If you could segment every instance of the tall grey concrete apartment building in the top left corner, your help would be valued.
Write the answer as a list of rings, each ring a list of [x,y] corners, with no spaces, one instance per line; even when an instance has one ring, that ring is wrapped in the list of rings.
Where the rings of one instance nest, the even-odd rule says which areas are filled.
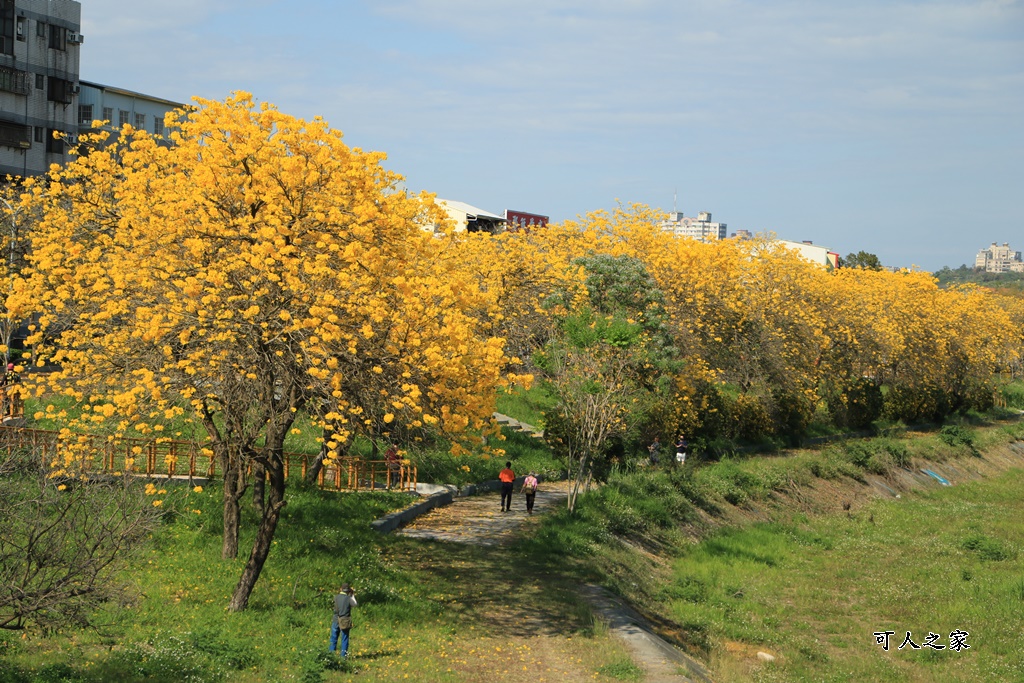
[[[53,132],[78,129],[81,16],[74,0],[0,0],[0,175],[68,160]]]

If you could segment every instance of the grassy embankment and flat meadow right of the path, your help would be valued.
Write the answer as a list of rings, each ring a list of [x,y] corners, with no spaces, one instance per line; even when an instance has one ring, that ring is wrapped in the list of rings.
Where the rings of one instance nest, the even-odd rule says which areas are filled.
[[[597,574],[723,681],[1020,680],[1024,474],[840,506],[894,460],[970,467],[977,451],[1014,438],[1020,423],[958,426],[624,475],[529,543]],[[799,511],[799,492],[815,489],[838,497],[838,513]],[[896,649],[907,631],[948,644],[955,629],[972,634],[971,650]],[[889,652],[873,644],[885,630],[898,634]],[[759,650],[779,659],[759,665]]]

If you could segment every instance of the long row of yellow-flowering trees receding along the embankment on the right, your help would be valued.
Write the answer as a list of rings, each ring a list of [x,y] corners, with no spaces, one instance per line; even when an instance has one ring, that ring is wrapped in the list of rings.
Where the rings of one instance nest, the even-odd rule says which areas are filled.
[[[766,236],[705,244],[643,205],[521,236],[481,238],[473,260],[501,283],[503,336],[524,360],[553,333],[541,302],[571,287],[567,264],[606,254],[643,262],[665,295],[678,357],[670,410],[641,427],[706,436],[796,435],[826,409],[838,426],[939,418],[991,401],[1019,369],[1020,304],[940,290],[929,273],[831,270]],[[882,387],[889,391],[883,395]]]

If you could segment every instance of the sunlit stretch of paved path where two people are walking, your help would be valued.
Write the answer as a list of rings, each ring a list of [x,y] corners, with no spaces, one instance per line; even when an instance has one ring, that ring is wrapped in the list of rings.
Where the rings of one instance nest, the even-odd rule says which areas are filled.
[[[565,505],[568,482],[544,482],[537,492],[534,516]],[[402,536],[431,541],[466,543],[476,546],[500,546],[515,536],[527,521],[526,497],[512,497],[512,511],[502,512],[501,495],[480,494],[457,498],[452,505],[431,510],[398,530]]]

